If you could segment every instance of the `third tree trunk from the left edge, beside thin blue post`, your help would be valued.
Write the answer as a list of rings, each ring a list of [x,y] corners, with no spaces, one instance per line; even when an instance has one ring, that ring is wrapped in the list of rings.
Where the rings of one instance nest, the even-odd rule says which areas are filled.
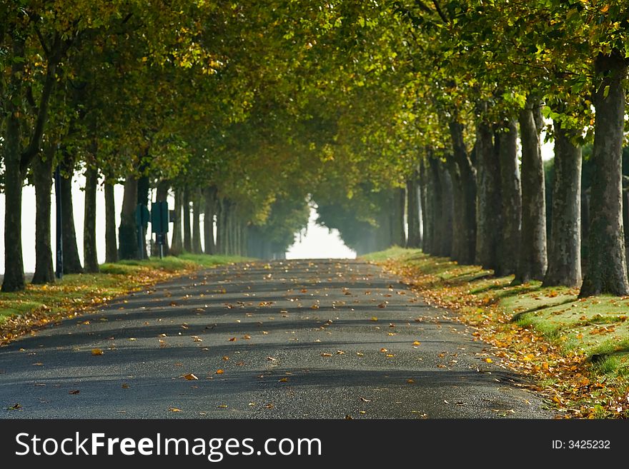
[[[74,158],[65,155],[64,172],[66,178],[61,178],[61,237],[64,251],[64,273],[83,273],[79,248],[76,245],[76,230],[74,228],[74,207],[72,206],[72,178],[74,176]]]

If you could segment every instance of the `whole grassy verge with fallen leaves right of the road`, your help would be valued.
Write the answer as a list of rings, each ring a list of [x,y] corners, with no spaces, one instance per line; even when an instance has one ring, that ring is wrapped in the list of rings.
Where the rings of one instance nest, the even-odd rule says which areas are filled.
[[[435,306],[475,326],[497,365],[529,375],[565,418],[629,417],[629,298],[578,299],[578,290],[512,286],[479,266],[420,250],[365,256]]]

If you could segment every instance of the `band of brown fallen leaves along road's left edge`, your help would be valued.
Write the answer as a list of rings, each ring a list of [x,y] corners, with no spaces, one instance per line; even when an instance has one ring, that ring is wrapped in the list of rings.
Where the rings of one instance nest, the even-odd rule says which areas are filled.
[[[119,279],[119,284],[125,286],[123,293],[131,293],[141,288],[152,286],[155,283],[166,281],[169,278],[190,273],[194,269],[186,268],[184,270],[167,271],[161,268],[143,267],[132,274],[112,274],[99,273],[99,276],[110,276]],[[107,303],[115,296],[106,288],[87,288],[88,286],[74,285],[68,286],[63,283],[55,283],[51,285],[27,285],[26,291],[21,293],[24,300],[36,295],[37,293],[46,292],[55,300],[51,304],[42,304],[36,306],[30,311],[20,313],[19,315],[10,316],[0,323],[0,346],[16,340],[21,336],[36,334],[41,328],[50,324],[59,323],[65,318],[74,318],[84,313],[94,311],[96,306]],[[67,293],[80,293],[79,297],[74,294],[72,297]],[[14,300],[15,301],[15,300]],[[19,301],[19,300],[18,300]],[[0,298],[0,306],[2,300]]]

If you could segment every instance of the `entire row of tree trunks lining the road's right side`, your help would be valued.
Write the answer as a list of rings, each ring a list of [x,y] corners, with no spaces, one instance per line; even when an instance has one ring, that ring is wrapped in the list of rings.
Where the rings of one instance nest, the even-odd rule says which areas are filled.
[[[621,54],[600,54],[595,66],[602,84],[593,100],[594,171],[588,206],[582,206],[581,149],[573,143],[578,135],[555,121],[555,178],[547,240],[540,143],[543,119],[540,101],[529,96],[517,121],[478,123],[472,152],[465,148],[456,119],[449,125],[452,154],[435,158],[425,148],[419,168],[407,180],[407,246],[421,244],[426,253],[477,263],[498,276],[514,274],[515,283],[539,280],[545,286],[581,286],[580,296],[628,295],[625,243],[629,227],[623,223],[622,176],[627,64]],[[564,110],[562,103],[554,107],[558,114]],[[478,110],[482,115],[487,104],[480,104]],[[629,220],[629,197],[625,199],[624,214]],[[582,220],[587,222],[584,227]],[[582,278],[585,231],[588,259]]]

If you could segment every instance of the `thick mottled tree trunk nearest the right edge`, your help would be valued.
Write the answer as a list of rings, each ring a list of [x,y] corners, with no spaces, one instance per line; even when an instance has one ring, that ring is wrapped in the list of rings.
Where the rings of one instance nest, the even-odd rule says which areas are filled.
[[[624,54],[599,54],[595,72],[602,78],[594,94],[596,109],[590,195],[588,271],[579,296],[629,295],[623,233],[623,130],[627,75]]]

